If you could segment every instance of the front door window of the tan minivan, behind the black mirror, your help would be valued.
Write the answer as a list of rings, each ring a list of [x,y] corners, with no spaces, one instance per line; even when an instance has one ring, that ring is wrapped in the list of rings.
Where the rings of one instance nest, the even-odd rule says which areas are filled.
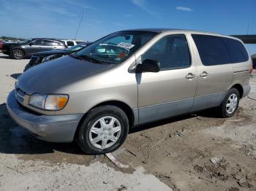
[[[142,60],[159,61],[160,69],[181,69],[190,66],[190,54],[184,35],[165,36],[142,55]]]

